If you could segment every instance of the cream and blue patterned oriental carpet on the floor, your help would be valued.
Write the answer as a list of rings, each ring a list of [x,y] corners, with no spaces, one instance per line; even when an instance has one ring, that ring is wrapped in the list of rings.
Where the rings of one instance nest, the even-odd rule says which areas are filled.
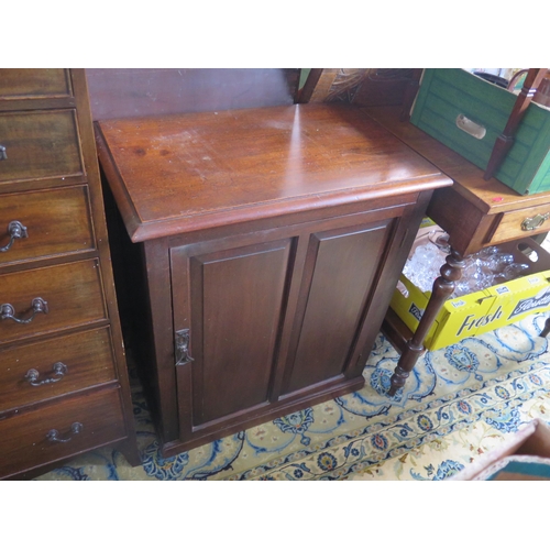
[[[427,352],[386,394],[398,353],[378,336],[360,392],[163,459],[133,388],[143,465],[110,448],[37,480],[443,480],[526,422],[550,422],[546,315]]]

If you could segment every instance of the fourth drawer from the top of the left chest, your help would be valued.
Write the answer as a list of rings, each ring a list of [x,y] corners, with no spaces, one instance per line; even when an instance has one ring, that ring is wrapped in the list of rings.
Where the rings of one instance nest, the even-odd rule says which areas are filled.
[[[99,265],[95,258],[0,275],[0,305],[12,306],[13,316],[30,318],[34,311],[32,302],[36,298],[47,302],[48,312],[37,312],[28,323],[19,323],[11,318],[0,319],[0,342],[107,318]],[[2,309],[6,312],[6,306]]]

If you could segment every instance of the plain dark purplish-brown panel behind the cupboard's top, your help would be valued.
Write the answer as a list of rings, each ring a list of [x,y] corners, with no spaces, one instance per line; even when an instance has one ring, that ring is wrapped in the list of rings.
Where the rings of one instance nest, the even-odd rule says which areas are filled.
[[[292,105],[299,69],[89,68],[94,120]]]

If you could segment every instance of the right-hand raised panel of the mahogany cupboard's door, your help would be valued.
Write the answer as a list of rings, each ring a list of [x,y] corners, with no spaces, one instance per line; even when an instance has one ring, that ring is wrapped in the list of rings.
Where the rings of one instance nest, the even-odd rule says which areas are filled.
[[[391,227],[385,221],[310,235],[284,394],[343,375],[353,363]]]

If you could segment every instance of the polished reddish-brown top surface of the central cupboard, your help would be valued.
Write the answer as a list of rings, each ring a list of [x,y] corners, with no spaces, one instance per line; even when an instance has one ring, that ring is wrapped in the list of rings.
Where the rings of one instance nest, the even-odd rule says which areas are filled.
[[[97,134],[134,241],[452,184],[349,106],[106,120]]]

